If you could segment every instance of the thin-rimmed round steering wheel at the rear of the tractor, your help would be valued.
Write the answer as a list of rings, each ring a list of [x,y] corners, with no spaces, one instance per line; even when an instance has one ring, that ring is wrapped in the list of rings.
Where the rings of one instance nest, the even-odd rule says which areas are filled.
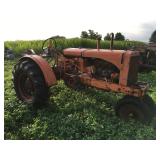
[[[42,51],[48,56],[54,56],[56,52],[57,43],[54,37],[46,39],[42,44]]]

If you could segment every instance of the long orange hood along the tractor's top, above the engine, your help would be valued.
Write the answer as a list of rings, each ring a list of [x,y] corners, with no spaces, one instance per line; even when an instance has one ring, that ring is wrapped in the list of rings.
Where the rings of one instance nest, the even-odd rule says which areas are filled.
[[[85,49],[67,48],[63,50],[65,57],[70,58],[98,58],[113,63],[118,68],[123,66],[124,61],[130,61],[132,57],[139,57],[139,52],[130,50],[110,50],[110,49]],[[126,62],[125,62],[126,63]],[[127,62],[129,63],[129,62]]]

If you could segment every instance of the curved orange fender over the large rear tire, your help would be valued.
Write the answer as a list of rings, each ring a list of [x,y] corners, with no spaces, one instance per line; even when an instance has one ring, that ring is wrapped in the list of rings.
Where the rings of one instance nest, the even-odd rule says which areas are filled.
[[[56,76],[55,76],[52,68],[50,67],[50,65],[48,64],[48,62],[44,58],[42,58],[41,56],[38,56],[38,55],[25,55],[19,61],[24,61],[26,59],[33,61],[34,63],[36,63],[39,66],[40,70],[43,73],[46,85],[48,87],[57,83]]]

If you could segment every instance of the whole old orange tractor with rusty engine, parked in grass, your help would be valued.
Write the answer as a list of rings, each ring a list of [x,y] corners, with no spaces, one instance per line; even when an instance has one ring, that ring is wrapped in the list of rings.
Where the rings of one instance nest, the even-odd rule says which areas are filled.
[[[146,92],[148,84],[138,82],[139,53],[130,50],[66,48],[60,50],[54,38],[44,41],[41,55],[22,57],[13,69],[17,97],[29,104],[48,101],[49,88],[64,80],[73,89],[94,87],[119,92],[125,96],[115,106],[116,114],[125,120],[150,121],[155,115],[155,103]],[[43,58],[51,57],[52,66]]]

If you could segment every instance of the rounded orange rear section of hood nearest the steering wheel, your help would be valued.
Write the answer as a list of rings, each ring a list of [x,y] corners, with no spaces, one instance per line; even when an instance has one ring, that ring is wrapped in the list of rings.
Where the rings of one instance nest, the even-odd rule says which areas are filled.
[[[81,57],[86,50],[84,48],[67,48],[63,50],[63,55],[65,57]]]

